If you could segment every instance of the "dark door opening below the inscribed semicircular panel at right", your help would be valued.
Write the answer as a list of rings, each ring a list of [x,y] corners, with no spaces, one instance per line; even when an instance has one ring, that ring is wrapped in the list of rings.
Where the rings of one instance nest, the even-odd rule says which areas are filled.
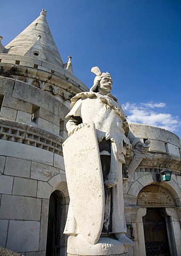
[[[147,208],[143,217],[146,256],[170,256],[166,218],[161,208]]]

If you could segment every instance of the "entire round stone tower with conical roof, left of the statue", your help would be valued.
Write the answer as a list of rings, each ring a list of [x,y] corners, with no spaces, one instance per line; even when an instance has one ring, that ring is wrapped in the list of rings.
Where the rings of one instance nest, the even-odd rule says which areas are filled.
[[[45,255],[48,244],[63,255],[64,117],[71,97],[88,89],[71,57],[63,62],[45,10],[8,45],[0,42],[0,70],[0,246],[30,256]]]

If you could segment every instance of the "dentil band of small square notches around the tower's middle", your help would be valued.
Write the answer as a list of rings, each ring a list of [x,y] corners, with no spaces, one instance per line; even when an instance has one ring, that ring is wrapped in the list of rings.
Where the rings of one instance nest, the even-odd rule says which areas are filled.
[[[36,126],[0,118],[0,139],[23,143],[62,155],[63,140]]]

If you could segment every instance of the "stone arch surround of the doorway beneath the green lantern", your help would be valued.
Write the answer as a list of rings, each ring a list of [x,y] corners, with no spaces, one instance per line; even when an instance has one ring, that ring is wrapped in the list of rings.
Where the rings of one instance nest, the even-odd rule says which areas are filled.
[[[159,184],[153,179],[153,177],[153,173],[141,175],[141,177],[135,179],[134,182],[130,182],[130,186],[125,187],[125,198],[128,198],[128,200],[130,200],[128,201],[130,202],[130,205],[126,205],[125,207],[126,222],[131,223],[132,225],[135,242],[135,246],[133,246],[133,249],[130,249],[130,255],[146,255],[144,243],[143,217],[146,214],[146,211],[149,207],[162,208],[161,214],[163,214],[166,218],[169,245],[171,245],[170,253],[171,255],[179,255],[181,251],[180,187],[175,181],[176,177],[174,174],[169,182],[161,182]],[[148,189],[151,187],[156,188],[156,191],[152,193],[153,200],[150,200],[150,198],[146,197],[146,194],[148,196],[150,195]],[[160,189],[160,191],[158,189]],[[162,195],[164,196],[164,194],[162,193],[163,191],[165,191],[165,196],[170,196],[169,198],[166,198],[166,200],[164,199],[165,197],[162,197]],[[168,195],[166,195],[167,192]],[[161,203],[165,203],[158,203],[156,206],[156,203],[154,202],[158,201],[158,194],[160,193],[162,193]],[[139,200],[139,198],[142,198],[142,200]],[[171,201],[169,201],[169,199],[171,199]],[[169,204],[171,202],[172,205],[169,207],[169,204],[166,202],[169,202]]]

